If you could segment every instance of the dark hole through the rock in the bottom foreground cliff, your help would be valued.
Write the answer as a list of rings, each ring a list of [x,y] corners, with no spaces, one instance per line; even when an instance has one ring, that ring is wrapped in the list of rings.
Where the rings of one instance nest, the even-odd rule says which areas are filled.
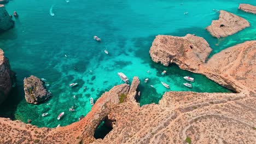
[[[104,137],[113,129],[113,124],[115,121],[105,117],[102,119],[101,123],[98,125],[95,130],[94,137],[95,139],[104,139]]]

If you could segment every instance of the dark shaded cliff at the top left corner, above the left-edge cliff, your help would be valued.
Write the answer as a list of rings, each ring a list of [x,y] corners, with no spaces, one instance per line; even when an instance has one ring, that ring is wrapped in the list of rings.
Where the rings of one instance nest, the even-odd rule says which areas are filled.
[[[0,32],[7,31],[13,27],[14,21],[11,20],[11,17],[7,10],[5,10],[4,5],[0,4]]]

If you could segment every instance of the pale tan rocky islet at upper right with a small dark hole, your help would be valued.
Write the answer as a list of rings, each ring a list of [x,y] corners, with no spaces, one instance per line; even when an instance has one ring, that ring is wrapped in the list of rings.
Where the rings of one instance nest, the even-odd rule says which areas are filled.
[[[213,37],[221,38],[235,34],[249,26],[250,23],[242,17],[220,10],[219,20],[212,21],[211,26],[206,29]]]

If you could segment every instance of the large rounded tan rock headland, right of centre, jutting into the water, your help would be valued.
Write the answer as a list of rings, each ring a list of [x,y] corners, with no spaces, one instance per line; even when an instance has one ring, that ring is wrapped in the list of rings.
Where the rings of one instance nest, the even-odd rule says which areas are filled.
[[[205,39],[187,34],[185,37],[158,35],[149,53],[156,63],[160,62],[165,66],[175,63],[183,69],[195,70],[198,65],[205,63],[211,51]]]

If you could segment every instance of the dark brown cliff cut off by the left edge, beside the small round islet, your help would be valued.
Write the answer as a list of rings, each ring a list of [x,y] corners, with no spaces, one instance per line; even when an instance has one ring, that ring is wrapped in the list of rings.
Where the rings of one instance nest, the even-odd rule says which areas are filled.
[[[4,57],[4,52],[0,49],[0,104],[7,98],[15,83],[15,74],[10,70],[8,58]]]

